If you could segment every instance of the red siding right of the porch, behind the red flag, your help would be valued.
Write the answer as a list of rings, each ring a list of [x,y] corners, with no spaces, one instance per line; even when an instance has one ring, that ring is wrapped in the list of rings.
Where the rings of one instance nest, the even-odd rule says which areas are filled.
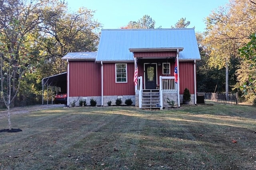
[[[190,94],[194,94],[194,61],[179,62],[180,94],[188,88]]]

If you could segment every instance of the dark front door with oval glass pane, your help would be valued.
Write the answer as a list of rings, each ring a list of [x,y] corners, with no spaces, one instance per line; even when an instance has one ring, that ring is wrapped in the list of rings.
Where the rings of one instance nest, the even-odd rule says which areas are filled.
[[[145,64],[145,88],[156,89],[156,64]]]

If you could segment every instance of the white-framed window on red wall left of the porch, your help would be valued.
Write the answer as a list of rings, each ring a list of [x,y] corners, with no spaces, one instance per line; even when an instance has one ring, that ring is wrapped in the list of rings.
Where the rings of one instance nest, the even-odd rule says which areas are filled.
[[[127,83],[127,64],[116,64],[116,83]]]

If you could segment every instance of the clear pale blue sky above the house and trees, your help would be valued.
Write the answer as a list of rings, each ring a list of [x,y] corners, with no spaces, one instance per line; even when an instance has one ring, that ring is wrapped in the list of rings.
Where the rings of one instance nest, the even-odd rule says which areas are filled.
[[[180,18],[190,21],[188,28],[196,32],[205,29],[204,19],[224,6],[228,0],[65,0],[70,11],[80,7],[95,10],[94,19],[102,29],[119,29],[130,21],[138,21],[144,15],[156,21],[155,28],[170,28]]]

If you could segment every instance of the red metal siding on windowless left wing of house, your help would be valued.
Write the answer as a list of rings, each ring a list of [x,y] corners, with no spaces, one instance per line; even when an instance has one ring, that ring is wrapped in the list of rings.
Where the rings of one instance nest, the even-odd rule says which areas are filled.
[[[101,96],[100,63],[69,61],[69,96]]]

